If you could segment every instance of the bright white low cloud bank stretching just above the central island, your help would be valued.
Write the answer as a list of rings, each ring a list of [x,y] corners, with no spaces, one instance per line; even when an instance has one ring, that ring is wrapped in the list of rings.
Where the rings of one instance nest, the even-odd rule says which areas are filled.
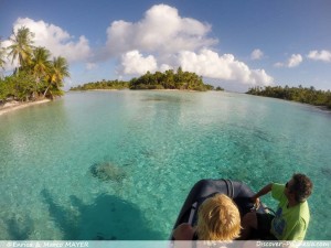
[[[152,55],[143,57],[137,50],[121,56],[120,72],[124,74],[142,75],[147,71],[164,72],[181,66],[183,71],[223,80],[235,80],[248,85],[270,85],[274,80],[264,69],[250,69],[245,63],[236,61],[234,55],[217,53],[203,48],[199,53],[182,51],[170,63],[158,66]]]

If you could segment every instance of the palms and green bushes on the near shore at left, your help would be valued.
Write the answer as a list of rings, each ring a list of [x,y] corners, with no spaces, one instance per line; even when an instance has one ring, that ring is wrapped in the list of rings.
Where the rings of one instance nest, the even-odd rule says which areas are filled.
[[[10,76],[0,76],[0,105],[7,101],[34,101],[62,96],[63,80],[70,77],[68,63],[62,57],[51,60],[45,47],[33,46],[34,34],[25,26],[13,32],[11,45],[2,47],[0,41],[0,68],[4,68],[4,57],[17,58],[18,67]]]

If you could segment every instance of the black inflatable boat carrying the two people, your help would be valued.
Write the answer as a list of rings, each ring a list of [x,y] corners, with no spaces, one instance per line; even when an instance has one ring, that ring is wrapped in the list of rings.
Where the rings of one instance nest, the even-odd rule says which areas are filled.
[[[182,223],[189,223],[191,226],[194,226],[196,224],[199,206],[204,200],[217,193],[225,194],[233,198],[239,209],[241,217],[250,212],[254,207],[254,203],[250,201],[254,193],[245,183],[231,180],[201,180],[189,193],[173,229]],[[256,212],[266,213],[268,208],[260,204]]]

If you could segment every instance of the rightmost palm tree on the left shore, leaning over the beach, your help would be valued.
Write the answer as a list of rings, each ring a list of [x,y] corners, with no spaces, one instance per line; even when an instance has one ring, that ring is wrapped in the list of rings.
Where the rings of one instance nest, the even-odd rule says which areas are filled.
[[[68,64],[64,57],[55,57],[51,63],[51,71],[49,74],[49,86],[44,91],[44,97],[46,96],[51,86],[53,86],[55,90],[61,91],[61,87],[63,86],[63,79],[65,77],[70,77]]]

